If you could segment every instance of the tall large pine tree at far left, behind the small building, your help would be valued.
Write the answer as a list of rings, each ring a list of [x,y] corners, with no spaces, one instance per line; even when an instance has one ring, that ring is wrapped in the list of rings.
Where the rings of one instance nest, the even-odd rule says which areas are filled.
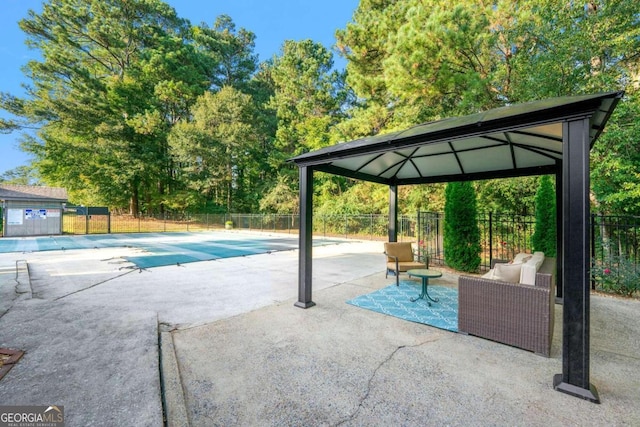
[[[29,97],[3,107],[40,127],[23,147],[43,180],[152,209],[170,184],[167,131],[205,89],[187,22],[160,0],[51,0],[20,27],[42,60]]]

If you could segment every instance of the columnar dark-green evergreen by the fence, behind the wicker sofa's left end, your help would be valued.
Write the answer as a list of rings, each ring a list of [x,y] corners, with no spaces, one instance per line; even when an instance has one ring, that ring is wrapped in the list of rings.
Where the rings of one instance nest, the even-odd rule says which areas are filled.
[[[470,182],[451,182],[445,190],[444,256],[447,265],[467,272],[480,265],[476,193]]]

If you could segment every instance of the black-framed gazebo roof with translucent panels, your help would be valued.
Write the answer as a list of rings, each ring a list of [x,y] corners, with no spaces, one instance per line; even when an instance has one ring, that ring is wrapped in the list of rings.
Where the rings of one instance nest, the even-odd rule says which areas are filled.
[[[563,123],[590,118],[590,147],[623,92],[506,106],[340,143],[290,159],[298,166],[389,185],[540,175],[562,160]]]

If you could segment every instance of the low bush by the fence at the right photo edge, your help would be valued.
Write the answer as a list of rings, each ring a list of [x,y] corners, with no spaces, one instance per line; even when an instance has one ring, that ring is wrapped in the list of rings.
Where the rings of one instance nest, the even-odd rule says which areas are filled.
[[[605,261],[595,261],[591,275],[598,288],[626,297],[640,292],[640,265],[626,256],[613,256]]]

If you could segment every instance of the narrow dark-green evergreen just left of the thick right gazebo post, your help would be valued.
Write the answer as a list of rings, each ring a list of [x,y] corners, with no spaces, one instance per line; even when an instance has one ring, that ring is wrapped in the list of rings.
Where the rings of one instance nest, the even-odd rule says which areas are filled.
[[[536,226],[531,244],[534,251],[556,256],[556,193],[550,175],[540,177],[536,192]]]

